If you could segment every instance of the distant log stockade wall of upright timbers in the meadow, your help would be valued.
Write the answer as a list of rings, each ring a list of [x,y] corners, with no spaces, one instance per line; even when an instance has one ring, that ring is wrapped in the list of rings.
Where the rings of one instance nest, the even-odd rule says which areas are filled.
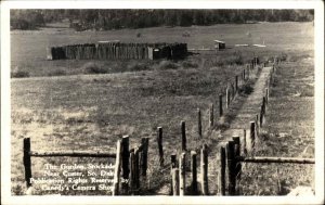
[[[182,59],[187,54],[186,43],[126,43],[98,42],[67,44],[47,49],[48,60],[156,60]]]

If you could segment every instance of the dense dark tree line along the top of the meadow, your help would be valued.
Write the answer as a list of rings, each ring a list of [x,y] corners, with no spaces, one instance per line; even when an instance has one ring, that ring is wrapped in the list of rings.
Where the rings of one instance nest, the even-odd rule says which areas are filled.
[[[313,10],[11,10],[13,29],[69,20],[78,29],[120,29],[251,22],[313,21]]]

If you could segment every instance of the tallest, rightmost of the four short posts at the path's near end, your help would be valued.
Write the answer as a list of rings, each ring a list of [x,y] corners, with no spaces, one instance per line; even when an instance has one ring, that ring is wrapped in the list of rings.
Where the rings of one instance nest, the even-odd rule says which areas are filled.
[[[200,171],[202,171],[202,192],[203,195],[208,195],[208,151],[207,144],[204,144],[200,150]]]

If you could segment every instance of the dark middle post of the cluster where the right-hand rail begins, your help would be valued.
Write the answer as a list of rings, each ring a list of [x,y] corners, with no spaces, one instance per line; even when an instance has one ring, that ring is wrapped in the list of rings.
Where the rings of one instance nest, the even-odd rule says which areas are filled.
[[[227,177],[229,177],[229,195],[236,194],[236,176],[235,176],[235,153],[234,153],[234,142],[229,141],[226,146],[226,159],[227,159]]]

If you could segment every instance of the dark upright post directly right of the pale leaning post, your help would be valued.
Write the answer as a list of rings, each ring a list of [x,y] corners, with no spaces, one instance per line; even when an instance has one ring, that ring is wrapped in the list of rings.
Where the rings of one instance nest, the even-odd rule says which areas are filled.
[[[130,175],[130,165],[129,165],[129,157],[130,157],[130,151],[129,151],[129,136],[123,136],[121,140],[121,159],[122,159],[122,190],[123,193],[128,192],[128,179]]]

